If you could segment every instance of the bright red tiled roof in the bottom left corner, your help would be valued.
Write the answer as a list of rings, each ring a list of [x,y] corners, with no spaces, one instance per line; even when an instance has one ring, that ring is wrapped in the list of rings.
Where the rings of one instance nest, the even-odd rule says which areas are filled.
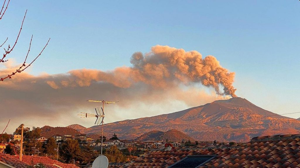
[[[27,168],[33,165],[43,164],[45,168],[79,168],[74,164],[64,164],[59,161],[38,156],[22,156],[22,161],[19,161],[17,155],[7,155],[0,153],[1,168]]]

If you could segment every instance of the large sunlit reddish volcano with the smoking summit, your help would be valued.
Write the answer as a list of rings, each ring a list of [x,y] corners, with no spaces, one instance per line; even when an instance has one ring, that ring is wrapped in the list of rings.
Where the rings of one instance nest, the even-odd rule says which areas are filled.
[[[134,139],[150,131],[183,131],[196,140],[249,141],[250,137],[298,134],[300,121],[264,110],[248,100],[235,97],[217,100],[170,114],[105,124],[105,135]],[[99,134],[100,126],[81,129]]]

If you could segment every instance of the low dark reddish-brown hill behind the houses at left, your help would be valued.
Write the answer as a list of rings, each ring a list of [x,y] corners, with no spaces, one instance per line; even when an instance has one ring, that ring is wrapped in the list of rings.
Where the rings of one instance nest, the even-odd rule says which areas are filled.
[[[43,126],[41,128],[41,136],[45,138],[50,138],[53,135],[76,135],[79,134],[79,131],[76,131],[73,128],[68,128],[68,127],[51,127],[51,126]]]

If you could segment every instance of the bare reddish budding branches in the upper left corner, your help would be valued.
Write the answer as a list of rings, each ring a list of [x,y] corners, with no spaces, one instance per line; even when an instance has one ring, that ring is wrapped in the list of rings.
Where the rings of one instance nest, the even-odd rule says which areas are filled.
[[[7,3],[6,3],[7,2]],[[3,3],[3,6],[1,8],[1,11],[0,11],[0,21],[2,19],[2,17],[4,16],[6,10],[7,10],[7,7],[8,7],[8,4],[9,4],[9,0],[6,1],[4,0],[4,3]],[[4,6],[5,6],[5,9],[4,9]],[[4,9],[4,10],[3,10]],[[3,13],[2,13],[3,11]],[[10,54],[13,49],[15,48],[16,44],[17,44],[17,41],[19,39],[19,36],[20,36],[20,33],[21,33],[21,30],[22,30],[22,26],[23,26],[23,23],[24,23],[24,20],[25,20],[25,17],[26,17],[26,13],[27,13],[27,10],[25,12],[25,15],[24,15],[24,18],[22,20],[22,24],[21,24],[21,28],[19,30],[19,33],[18,33],[18,36],[16,37],[16,41],[14,42],[14,44],[11,46],[11,45],[7,45],[6,48],[4,48],[4,54],[2,56],[2,58],[0,57],[0,63],[3,63],[3,62],[7,62],[8,60],[6,59],[6,57],[8,56],[8,54]],[[1,32],[2,33],[2,32]],[[6,38],[6,40],[1,44],[0,43],[0,48],[7,42],[8,38]],[[48,42],[50,41],[50,39],[48,40]],[[19,68],[17,68],[15,71],[11,72],[11,73],[8,73],[6,71],[3,71],[3,73],[1,73],[1,70],[0,70],[0,75],[4,75],[4,73],[6,73],[6,76],[4,77],[0,77],[0,81],[3,81],[5,79],[10,79],[12,78],[13,75],[17,74],[17,73],[21,73],[22,71],[24,71],[26,68],[28,68],[41,54],[42,52],[44,51],[44,49],[46,48],[46,46],[48,45],[48,42],[46,43],[45,47],[42,49],[42,51],[40,52],[40,54],[38,54],[38,56],[35,57],[35,59],[33,59],[33,61],[31,63],[29,63],[28,65],[26,65],[26,60],[27,60],[27,56],[29,55],[29,51],[30,51],[30,47],[31,47],[31,42],[32,42],[32,36],[31,36],[31,39],[30,39],[30,43],[29,43],[29,49],[28,49],[28,52],[27,52],[27,55],[25,57],[25,60],[24,60],[24,63],[22,65],[19,66]],[[7,74],[8,73],[8,74]]]

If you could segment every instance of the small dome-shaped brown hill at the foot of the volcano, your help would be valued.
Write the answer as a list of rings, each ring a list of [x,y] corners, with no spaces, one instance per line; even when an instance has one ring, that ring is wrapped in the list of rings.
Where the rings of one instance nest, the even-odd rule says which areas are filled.
[[[176,129],[171,129],[166,132],[162,131],[151,131],[147,132],[140,137],[138,137],[136,140],[139,141],[145,141],[145,140],[153,140],[153,141],[169,141],[169,142],[181,142],[182,140],[185,142],[187,140],[190,140],[192,142],[195,141],[194,138],[186,135],[183,132],[180,132]]]

